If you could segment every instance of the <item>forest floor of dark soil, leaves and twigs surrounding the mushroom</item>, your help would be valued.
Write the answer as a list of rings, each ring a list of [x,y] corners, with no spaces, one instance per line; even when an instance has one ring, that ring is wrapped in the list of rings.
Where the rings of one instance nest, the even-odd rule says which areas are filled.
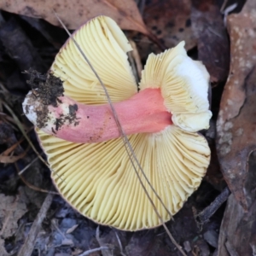
[[[122,1],[110,0],[91,9],[86,5],[91,1],[84,1],[79,7],[84,13],[78,0],[73,9],[57,0],[0,3],[0,255],[181,255],[163,227],[125,232],[73,210],[39,159],[46,157],[21,108],[31,90],[24,71],[47,73],[68,38],[52,9],[73,31],[90,15],[105,14],[106,2],[117,6],[112,12],[106,8],[106,15],[117,18],[137,49],[130,59],[138,77],[148,54],[182,40],[188,55],[202,61],[211,76],[212,120],[204,135],[212,159],[200,188],[166,224],[172,236],[191,256],[256,255],[256,3],[141,0],[130,6],[130,1],[125,13]],[[229,200],[200,227],[196,212],[227,186]]]

